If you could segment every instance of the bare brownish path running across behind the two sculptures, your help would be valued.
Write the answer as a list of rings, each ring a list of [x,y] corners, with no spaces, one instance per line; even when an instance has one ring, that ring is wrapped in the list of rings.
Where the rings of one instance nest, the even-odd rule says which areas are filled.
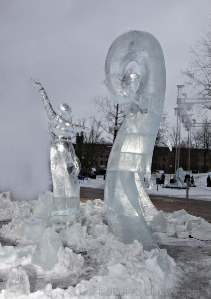
[[[88,199],[94,200],[96,198],[104,200],[104,189],[82,187],[80,189],[80,197],[82,202],[85,202]],[[149,197],[158,210],[163,210],[167,213],[186,209],[186,198],[163,195],[149,195]],[[211,201],[189,199],[188,213],[202,217],[211,223]]]

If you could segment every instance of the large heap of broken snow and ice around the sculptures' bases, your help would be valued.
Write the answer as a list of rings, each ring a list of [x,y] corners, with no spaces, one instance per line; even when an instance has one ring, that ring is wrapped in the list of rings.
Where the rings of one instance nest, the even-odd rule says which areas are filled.
[[[25,203],[26,210],[32,210],[33,206],[34,202],[31,206],[30,202]],[[29,240],[22,236],[27,220],[27,217],[14,216],[0,229],[1,237],[21,244],[14,248],[9,246],[15,249],[15,255],[9,264],[0,265],[5,276],[8,276],[9,269],[22,265],[28,273],[29,282],[35,273],[37,279],[42,278],[43,281],[39,284],[41,290],[37,291],[36,287],[33,293],[21,298],[140,298],[141,292],[171,289],[178,281],[178,269],[165,249],[143,251],[138,241],[125,245],[107,233],[105,205],[100,199],[81,204],[79,219],[59,234],[55,233],[56,237],[48,237],[47,231],[52,229],[46,229],[38,245],[33,243],[33,238]],[[58,237],[61,241],[57,240]],[[50,245],[44,242],[48,238],[59,244],[56,256],[54,253],[51,258],[53,264],[50,268],[37,262],[39,255],[42,260],[42,255],[52,254],[50,247],[53,241]],[[50,284],[56,282],[60,287],[64,281],[72,283],[64,289],[53,289]],[[4,298],[4,294],[5,290],[2,290],[0,299]]]

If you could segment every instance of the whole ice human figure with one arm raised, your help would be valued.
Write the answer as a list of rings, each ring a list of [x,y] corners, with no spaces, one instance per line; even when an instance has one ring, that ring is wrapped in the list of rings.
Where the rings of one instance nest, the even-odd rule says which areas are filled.
[[[72,108],[69,104],[62,104],[55,112],[40,82],[33,78],[30,81],[39,88],[50,130],[55,135],[50,149],[53,205],[48,226],[60,229],[79,215],[80,208],[78,174],[81,164],[71,139],[76,133],[89,132],[89,129],[70,121]]]

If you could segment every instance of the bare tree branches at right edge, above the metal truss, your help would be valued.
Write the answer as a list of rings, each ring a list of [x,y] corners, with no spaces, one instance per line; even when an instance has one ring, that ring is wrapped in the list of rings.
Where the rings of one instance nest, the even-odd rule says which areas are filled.
[[[195,48],[190,48],[193,56],[189,67],[181,73],[186,77],[185,84],[192,86],[199,97],[206,98],[211,97],[211,24],[203,32]],[[202,104],[201,108],[211,109],[211,104]]]

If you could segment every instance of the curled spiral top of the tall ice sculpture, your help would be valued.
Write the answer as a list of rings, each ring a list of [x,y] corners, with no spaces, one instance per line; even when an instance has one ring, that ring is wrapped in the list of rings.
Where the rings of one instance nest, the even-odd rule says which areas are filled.
[[[132,69],[126,72],[131,62],[136,63],[139,74]],[[156,94],[162,107],[165,62],[158,40],[150,33],[131,30],[118,36],[107,53],[105,72],[107,88],[118,104],[135,102],[142,109],[152,109],[151,98]],[[163,108],[155,105],[152,112],[157,109]]]

